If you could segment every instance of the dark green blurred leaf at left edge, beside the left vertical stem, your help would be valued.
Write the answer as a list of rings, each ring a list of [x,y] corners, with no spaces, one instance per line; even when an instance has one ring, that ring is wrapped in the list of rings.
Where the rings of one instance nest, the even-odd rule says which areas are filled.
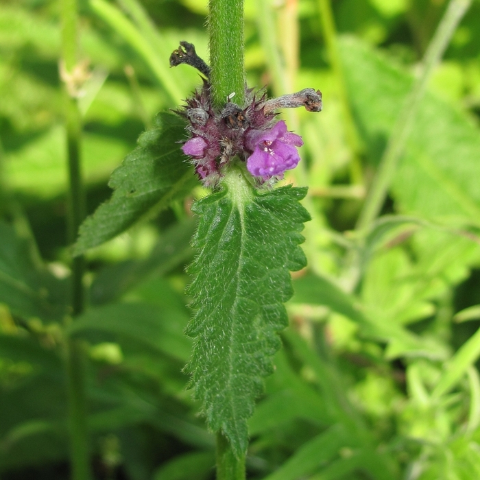
[[[0,222],[0,302],[24,319],[61,320],[67,313],[67,283],[40,264],[29,241]]]

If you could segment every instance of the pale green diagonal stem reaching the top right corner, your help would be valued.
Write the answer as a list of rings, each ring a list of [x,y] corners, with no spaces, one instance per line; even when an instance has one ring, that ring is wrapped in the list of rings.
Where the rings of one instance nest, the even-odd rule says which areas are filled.
[[[450,39],[470,7],[472,0],[451,0],[446,12],[437,27],[435,34],[425,52],[420,75],[413,84],[407,95],[403,109],[390,136],[387,148],[380,161],[379,170],[376,173],[370,192],[361,211],[357,228],[368,228],[377,215],[379,215],[387,192],[394,178],[398,160],[403,154],[405,143],[416,118],[420,102],[424,96],[427,84],[435,66],[440,62]]]

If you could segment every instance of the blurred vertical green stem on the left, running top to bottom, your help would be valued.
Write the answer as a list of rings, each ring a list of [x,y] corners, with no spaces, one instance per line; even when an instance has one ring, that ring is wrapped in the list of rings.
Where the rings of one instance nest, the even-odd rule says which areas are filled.
[[[68,239],[72,244],[85,217],[85,195],[81,172],[82,119],[77,99],[68,88],[68,77],[77,67],[77,2],[61,0],[62,14],[62,62],[67,77],[64,88],[65,128],[69,166]],[[84,258],[77,256],[71,264],[71,309],[75,317],[84,310]],[[71,448],[71,479],[91,478],[86,429],[86,396],[84,352],[78,340],[67,340],[67,384],[69,396],[69,433]]]

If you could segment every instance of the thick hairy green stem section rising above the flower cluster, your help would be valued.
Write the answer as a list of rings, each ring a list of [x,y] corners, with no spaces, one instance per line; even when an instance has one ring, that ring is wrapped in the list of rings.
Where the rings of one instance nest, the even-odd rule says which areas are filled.
[[[213,102],[222,108],[228,98],[243,106],[243,0],[210,0],[208,36]],[[235,94],[235,97],[232,97]]]

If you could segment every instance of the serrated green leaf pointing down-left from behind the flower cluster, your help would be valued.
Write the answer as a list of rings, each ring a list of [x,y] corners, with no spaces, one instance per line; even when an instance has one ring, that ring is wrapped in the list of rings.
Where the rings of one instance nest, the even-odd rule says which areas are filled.
[[[139,137],[139,146],[112,173],[110,200],[80,227],[76,255],[116,237],[191,190],[195,175],[179,143],[185,136],[184,128],[177,115],[158,114],[155,128]]]

